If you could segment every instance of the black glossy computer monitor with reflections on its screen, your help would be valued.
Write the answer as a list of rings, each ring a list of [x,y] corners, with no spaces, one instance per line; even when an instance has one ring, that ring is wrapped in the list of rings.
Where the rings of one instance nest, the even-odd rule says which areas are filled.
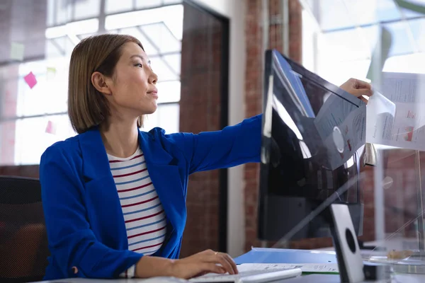
[[[348,205],[361,236],[365,103],[276,50],[266,52],[263,93],[259,239],[280,240],[344,184],[333,203]],[[318,214],[291,239],[323,236],[329,219]]]

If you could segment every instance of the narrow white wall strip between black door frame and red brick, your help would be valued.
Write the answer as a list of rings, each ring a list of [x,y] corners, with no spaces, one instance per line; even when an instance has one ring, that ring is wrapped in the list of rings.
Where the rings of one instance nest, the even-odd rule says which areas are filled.
[[[194,0],[230,20],[229,51],[229,125],[237,124],[245,115],[245,1]],[[243,166],[229,169],[227,251],[236,257],[244,253],[245,211]]]

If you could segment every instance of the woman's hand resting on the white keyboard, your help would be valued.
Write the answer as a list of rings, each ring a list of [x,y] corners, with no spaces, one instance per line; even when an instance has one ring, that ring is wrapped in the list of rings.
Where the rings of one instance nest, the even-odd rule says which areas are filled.
[[[228,272],[230,275],[238,273],[236,264],[227,253],[217,253],[213,250],[204,250],[188,258],[174,260],[170,268],[171,276],[183,279],[210,272],[220,274]]]

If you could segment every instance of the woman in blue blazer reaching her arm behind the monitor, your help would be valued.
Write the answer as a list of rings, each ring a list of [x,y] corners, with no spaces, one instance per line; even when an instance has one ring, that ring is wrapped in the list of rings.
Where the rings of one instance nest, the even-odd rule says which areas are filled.
[[[177,260],[188,175],[259,162],[261,116],[217,132],[140,132],[143,115],[157,110],[157,79],[134,37],[98,35],[74,48],[68,112],[79,134],[40,161],[45,279],[237,273],[229,255],[212,250]],[[356,80],[344,88],[370,93]]]

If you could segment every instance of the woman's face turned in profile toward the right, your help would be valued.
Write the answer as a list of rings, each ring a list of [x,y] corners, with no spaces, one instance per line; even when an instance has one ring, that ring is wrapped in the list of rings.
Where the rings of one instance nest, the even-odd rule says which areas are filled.
[[[112,112],[119,115],[152,114],[157,110],[158,76],[152,71],[147,54],[134,42],[127,42],[115,65],[113,78],[108,79],[111,96],[108,96]]]

